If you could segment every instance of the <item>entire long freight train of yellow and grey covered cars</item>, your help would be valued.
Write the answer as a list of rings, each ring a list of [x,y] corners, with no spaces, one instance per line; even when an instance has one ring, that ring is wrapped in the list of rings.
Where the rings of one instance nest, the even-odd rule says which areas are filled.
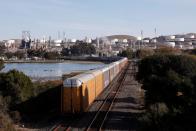
[[[61,95],[62,113],[75,114],[87,111],[90,104],[108,87],[127,63],[127,58],[121,58],[102,68],[64,80]]]

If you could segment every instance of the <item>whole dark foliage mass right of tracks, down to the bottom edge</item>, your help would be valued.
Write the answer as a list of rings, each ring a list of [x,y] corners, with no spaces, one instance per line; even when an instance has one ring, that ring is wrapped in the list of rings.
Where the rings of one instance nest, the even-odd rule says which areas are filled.
[[[196,129],[195,58],[188,55],[144,58],[139,63],[137,79],[146,90],[142,130]]]

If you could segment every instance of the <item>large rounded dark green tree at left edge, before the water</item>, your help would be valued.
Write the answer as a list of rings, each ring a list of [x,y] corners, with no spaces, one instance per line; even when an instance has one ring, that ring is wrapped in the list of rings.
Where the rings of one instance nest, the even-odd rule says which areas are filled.
[[[15,105],[33,96],[33,84],[22,72],[11,70],[0,74],[0,92],[3,97],[11,97],[10,104]]]

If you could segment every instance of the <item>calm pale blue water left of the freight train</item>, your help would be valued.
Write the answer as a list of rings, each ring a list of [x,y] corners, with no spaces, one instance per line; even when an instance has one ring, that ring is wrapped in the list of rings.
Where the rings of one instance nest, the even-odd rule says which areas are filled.
[[[61,79],[61,76],[72,71],[85,71],[102,67],[102,63],[9,63],[2,72],[16,69],[22,71],[33,80]]]

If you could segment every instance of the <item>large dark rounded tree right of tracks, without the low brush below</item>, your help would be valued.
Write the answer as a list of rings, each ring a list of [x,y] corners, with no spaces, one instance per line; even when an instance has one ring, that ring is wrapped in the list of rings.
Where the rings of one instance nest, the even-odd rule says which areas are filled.
[[[196,60],[189,56],[155,55],[139,63],[137,79],[146,90],[146,105],[165,103],[170,111],[192,104]]]

